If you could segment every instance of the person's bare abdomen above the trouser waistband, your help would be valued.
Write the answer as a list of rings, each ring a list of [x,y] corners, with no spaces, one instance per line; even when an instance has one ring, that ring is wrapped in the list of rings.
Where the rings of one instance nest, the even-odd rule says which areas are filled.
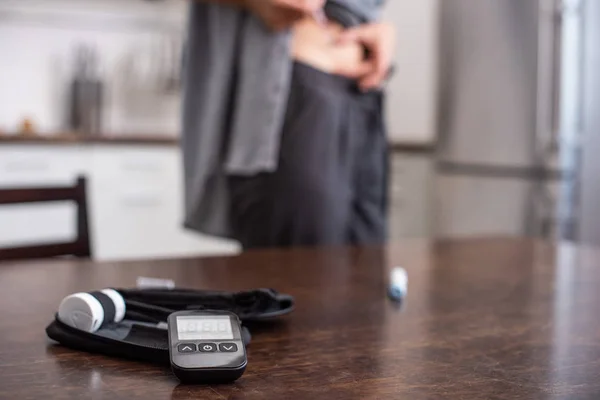
[[[334,22],[321,26],[314,19],[305,18],[294,26],[292,57],[332,74],[341,73],[342,68],[348,70],[348,67],[360,64],[364,57],[361,45],[336,42],[342,31],[343,28]]]

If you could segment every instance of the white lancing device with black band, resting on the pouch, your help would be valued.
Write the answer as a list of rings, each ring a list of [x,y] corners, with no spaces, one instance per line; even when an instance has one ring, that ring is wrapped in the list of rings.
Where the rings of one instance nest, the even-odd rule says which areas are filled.
[[[100,292],[108,296],[115,306],[113,321],[120,322],[125,317],[125,300],[114,289],[103,289]],[[96,332],[104,321],[102,304],[89,293],[75,293],[65,297],[58,307],[58,318],[61,322],[86,332]]]

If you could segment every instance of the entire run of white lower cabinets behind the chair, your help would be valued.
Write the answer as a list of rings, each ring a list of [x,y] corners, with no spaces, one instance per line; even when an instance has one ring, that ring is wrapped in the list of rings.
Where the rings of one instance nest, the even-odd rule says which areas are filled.
[[[237,243],[185,231],[179,149],[171,146],[0,147],[0,187],[88,181],[94,258],[120,260],[232,254]],[[67,202],[0,207],[0,246],[69,240],[75,206]]]

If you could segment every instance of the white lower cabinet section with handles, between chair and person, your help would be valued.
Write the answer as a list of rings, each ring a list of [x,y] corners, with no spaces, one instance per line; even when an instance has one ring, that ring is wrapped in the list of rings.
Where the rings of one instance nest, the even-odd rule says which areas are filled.
[[[93,249],[100,259],[234,253],[236,243],[187,232],[178,148],[97,146],[91,154]]]

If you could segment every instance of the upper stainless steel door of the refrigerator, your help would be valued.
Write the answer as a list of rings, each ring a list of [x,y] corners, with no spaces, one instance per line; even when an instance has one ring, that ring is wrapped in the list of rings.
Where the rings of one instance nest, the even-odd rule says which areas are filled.
[[[554,0],[550,0],[550,6]],[[440,157],[527,168],[552,103],[552,22],[546,0],[443,0]],[[541,38],[546,38],[541,40]],[[544,65],[541,68],[542,64]],[[544,71],[542,74],[539,71]],[[542,82],[543,84],[540,84]],[[542,106],[538,98],[544,99]]]

